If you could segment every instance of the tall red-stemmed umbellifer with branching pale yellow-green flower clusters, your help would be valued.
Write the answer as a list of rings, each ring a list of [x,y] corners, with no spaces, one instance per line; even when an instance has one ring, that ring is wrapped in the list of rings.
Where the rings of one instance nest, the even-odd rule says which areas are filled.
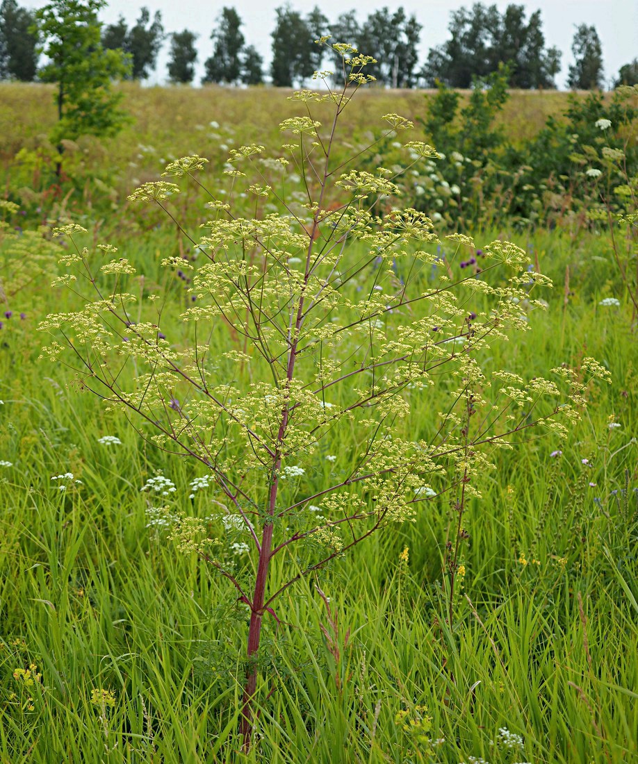
[[[242,192],[245,184],[253,216],[238,215],[205,189],[201,157],[167,167],[165,175],[201,186],[212,209],[206,235],[189,237],[193,255],[163,262],[191,278],[193,302],[182,304],[179,319],[173,313],[169,323],[170,293],[157,290],[138,303],[127,291],[133,264],[112,259],[108,244],[82,248],[76,238],[83,228],[66,225],[59,233],[72,246],[62,263],[71,272],[59,283],[83,303],[41,325],[54,337],[48,357],[66,362],[111,408],[134,414],[159,448],[205,466],[225,496],[225,524],[241,529],[250,545],[251,565],[232,567],[204,520],[170,509],[180,549],[225,576],[250,612],[241,712],[247,748],[261,687],[262,624],[279,619],[283,591],[378,530],[412,520],[443,490],[458,493],[461,539],[463,507],[488,463],[484,449],[509,447],[538,426],[565,432],[556,417],[577,417],[587,372],[602,373],[586,361],[578,374],[556,370],[558,384],[525,382],[509,371],[486,377],[480,361],[489,343],[529,329],[524,306],[536,304],[530,290],[547,280],[529,273],[526,254],[503,241],[484,248],[479,272],[463,235],[449,237],[453,248],[469,248],[454,278],[449,263],[431,254],[438,239],[425,214],[397,207],[384,219],[371,215],[380,198],[390,210],[397,193],[391,173],[357,170],[360,154],[348,163],[333,158],[339,119],[371,79],[364,73],[371,59],[345,44],[333,48],[343,60],[343,86],[293,96],[307,115],[281,123],[293,135],[284,156],[262,157],[264,147],[252,145],[229,158],[229,182]],[[316,102],[332,110],[327,128],[313,118]],[[384,120],[388,132],[412,127],[398,115]],[[406,143],[406,152],[412,161],[436,157],[419,142]],[[286,176],[291,164],[306,193],[297,206],[263,174],[280,167]],[[247,173],[254,183],[244,180]],[[290,188],[285,181],[280,187]],[[177,193],[176,184],[158,181],[130,198],[176,220],[170,202]],[[259,214],[264,200],[280,212]],[[179,322],[182,336],[171,341]],[[444,413],[436,432],[417,439],[411,396],[432,395],[434,402],[432,386],[445,391]],[[351,444],[342,460],[350,467],[326,478],[324,444],[335,440]],[[450,544],[456,552],[458,539]],[[451,601],[456,552],[447,562]]]

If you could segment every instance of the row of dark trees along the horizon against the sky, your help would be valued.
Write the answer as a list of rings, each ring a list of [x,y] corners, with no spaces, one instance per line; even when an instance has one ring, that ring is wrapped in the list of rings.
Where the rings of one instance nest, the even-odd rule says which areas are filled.
[[[141,8],[139,18],[129,27],[120,16],[115,24],[100,24],[96,13],[102,0],[55,0],[49,4],[60,15],[72,13],[78,23],[89,16],[99,26],[99,43],[105,50],[123,54],[122,79],[147,79],[157,64],[157,53],[170,44],[168,74],[173,83],[192,83],[198,58],[198,35],[184,29],[167,34],[160,11],[151,18]],[[47,6],[49,7],[49,6]],[[84,18],[84,22],[83,22]],[[267,74],[274,86],[300,86],[323,67],[340,65],[329,51],[314,40],[330,34],[373,56],[371,73],[381,86],[393,88],[433,87],[438,83],[452,88],[469,88],[474,78],[484,78],[506,64],[509,86],[520,89],[554,88],[561,70],[561,51],[547,47],[540,11],[529,18],[523,5],[508,5],[500,12],[496,5],[474,3],[471,8],[452,11],[449,39],[432,47],[419,66],[418,47],[422,26],[403,7],[372,11],[358,21],[355,11],[345,11],[333,21],[316,6],[303,15],[290,5],[277,8],[271,33],[272,60],[266,72],[264,60],[241,31],[243,21],[235,8],[223,8],[210,35],[211,56],[204,62],[202,83],[259,85]],[[31,82],[46,79],[47,66],[40,66],[40,54],[47,51],[47,30],[40,11],[21,8],[17,0],[0,5],[0,79]],[[580,24],[572,42],[574,63],[568,67],[572,89],[599,89],[603,86],[601,40],[594,26]],[[638,59],[620,68],[616,85],[638,83]]]

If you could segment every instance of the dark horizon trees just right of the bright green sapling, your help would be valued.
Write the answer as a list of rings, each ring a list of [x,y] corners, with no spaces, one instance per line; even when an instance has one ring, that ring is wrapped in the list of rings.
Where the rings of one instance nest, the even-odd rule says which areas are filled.
[[[107,50],[122,50],[131,59],[131,69],[126,74],[131,79],[147,79],[155,69],[157,53],[164,42],[162,15],[156,11],[151,22],[148,8],[141,8],[140,16],[131,29],[123,16],[115,24],[102,31],[102,45]]]

